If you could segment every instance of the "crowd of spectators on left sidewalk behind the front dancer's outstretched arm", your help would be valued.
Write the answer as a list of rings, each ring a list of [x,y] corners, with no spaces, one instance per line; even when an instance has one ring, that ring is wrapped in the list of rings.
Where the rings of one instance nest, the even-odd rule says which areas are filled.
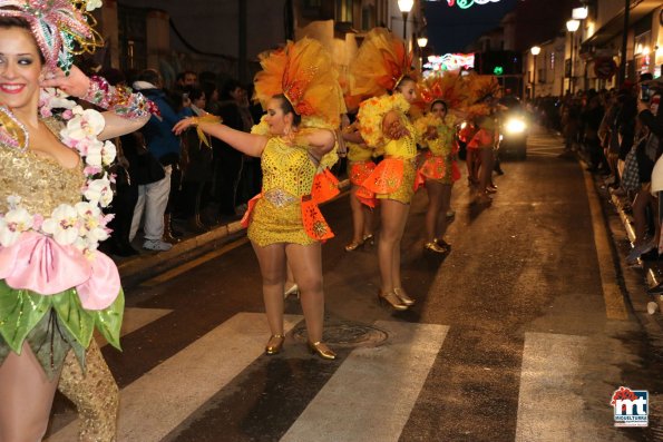
[[[242,216],[260,191],[260,163],[218,140],[202,140],[195,130],[176,136],[173,127],[189,116],[222,120],[250,131],[261,109],[251,106],[248,87],[220,81],[212,72],[184,71],[166,88],[157,70],[100,72],[111,85],[130,86],[159,110],[136,132],[116,140],[116,204],[111,239],[103,247],[116,256],[138,254],[131,243],[163,252],[184,232],[199,234]]]

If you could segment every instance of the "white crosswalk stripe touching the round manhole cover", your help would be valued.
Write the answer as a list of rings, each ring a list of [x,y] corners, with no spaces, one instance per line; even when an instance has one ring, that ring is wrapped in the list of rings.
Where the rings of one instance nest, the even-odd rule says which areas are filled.
[[[282,442],[398,441],[449,327],[376,325],[389,333],[389,344],[354,350]]]

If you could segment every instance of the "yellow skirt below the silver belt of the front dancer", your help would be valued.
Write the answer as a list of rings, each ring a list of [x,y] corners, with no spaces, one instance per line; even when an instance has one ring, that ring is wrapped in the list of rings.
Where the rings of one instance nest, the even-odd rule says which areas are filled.
[[[316,243],[304,230],[301,203],[277,207],[263,197],[255,204],[247,230],[248,239],[260,247],[276,243],[310,245]]]

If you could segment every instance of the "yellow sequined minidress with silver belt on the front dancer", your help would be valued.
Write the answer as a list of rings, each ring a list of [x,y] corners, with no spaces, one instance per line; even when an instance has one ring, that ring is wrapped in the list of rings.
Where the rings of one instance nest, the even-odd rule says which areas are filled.
[[[262,198],[252,214],[248,239],[261,247],[275,243],[315,243],[304,230],[301,198],[311,194],[318,166],[303,137],[292,145],[280,137],[270,138],[261,164]]]

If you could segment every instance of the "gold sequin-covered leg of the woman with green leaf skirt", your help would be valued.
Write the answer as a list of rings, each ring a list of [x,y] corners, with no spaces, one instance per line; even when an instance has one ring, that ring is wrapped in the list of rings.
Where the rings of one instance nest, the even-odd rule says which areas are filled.
[[[66,395],[80,418],[79,442],[113,442],[116,440],[119,391],[96,341],[85,354],[85,373],[74,352],[62,365],[58,390]]]

